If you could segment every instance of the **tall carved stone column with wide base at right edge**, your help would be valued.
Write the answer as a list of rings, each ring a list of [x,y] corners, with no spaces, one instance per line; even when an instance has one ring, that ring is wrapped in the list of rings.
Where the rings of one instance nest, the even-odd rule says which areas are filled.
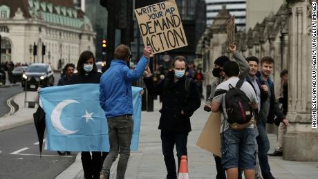
[[[310,40],[307,3],[303,0],[287,0],[289,19],[288,54],[288,131],[283,137],[283,159],[318,161],[318,131],[311,128],[310,115]]]

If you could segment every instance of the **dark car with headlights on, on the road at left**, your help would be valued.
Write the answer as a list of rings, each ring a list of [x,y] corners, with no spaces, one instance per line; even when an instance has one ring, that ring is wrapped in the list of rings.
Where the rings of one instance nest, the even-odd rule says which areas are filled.
[[[38,87],[53,86],[54,73],[48,64],[31,64],[22,75],[22,87],[27,91],[37,91]]]

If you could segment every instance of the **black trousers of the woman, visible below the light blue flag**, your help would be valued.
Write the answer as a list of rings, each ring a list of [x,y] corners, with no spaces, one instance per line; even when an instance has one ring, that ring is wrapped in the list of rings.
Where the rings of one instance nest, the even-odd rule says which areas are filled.
[[[102,153],[100,151],[92,151],[91,153],[89,151],[82,151],[81,153],[84,178],[100,178],[102,163],[104,162],[108,152]]]

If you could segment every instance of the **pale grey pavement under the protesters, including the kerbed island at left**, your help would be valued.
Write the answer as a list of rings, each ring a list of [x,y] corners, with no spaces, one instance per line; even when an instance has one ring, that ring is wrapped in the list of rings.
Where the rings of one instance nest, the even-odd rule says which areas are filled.
[[[19,105],[19,111],[13,115],[0,118],[0,131],[33,122],[32,113],[35,113],[37,106],[35,109],[26,108],[24,106],[24,93],[16,95],[13,100]],[[37,100],[37,93],[29,92],[28,100]],[[212,154],[196,146],[196,141],[209,116],[209,113],[203,111],[203,104],[204,102],[202,102],[200,109],[191,117],[192,131],[189,133],[187,144],[189,178],[194,179],[216,177],[216,167]],[[160,131],[158,130],[159,109],[160,103],[155,100],[154,112],[142,111],[139,150],[131,152],[126,172],[127,179],[162,179],[166,176],[165,162],[161,151]],[[271,144],[270,152],[272,152],[276,147],[277,136],[274,134],[268,134],[268,136]],[[294,162],[283,160],[281,157],[269,157],[269,159],[272,173],[279,179],[318,178],[318,162]],[[115,178],[117,162],[116,160],[111,168],[111,178]],[[83,176],[79,153],[75,162],[56,178],[82,179]]]

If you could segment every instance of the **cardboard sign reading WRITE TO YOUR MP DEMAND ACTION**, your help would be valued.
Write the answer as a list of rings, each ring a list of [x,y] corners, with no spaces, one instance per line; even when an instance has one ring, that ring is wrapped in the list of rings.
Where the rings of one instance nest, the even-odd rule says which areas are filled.
[[[155,54],[187,46],[176,1],[135,9],[135,16],[144,45],[151,46]]]

